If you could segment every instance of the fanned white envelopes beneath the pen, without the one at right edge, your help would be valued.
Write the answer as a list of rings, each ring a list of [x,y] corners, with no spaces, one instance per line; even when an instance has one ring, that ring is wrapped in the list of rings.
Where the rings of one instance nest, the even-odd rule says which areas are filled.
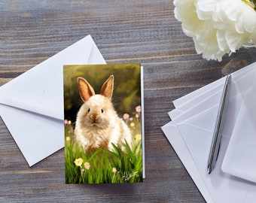
[[[255,183],[221,171],[235,123],[244,116],[240,114],[241,106],[253,86],[255,67],[256,63],[232,74],[228,119],[224,126],[218,162],[210,175],[207,173],[207,162],[221,99],[219,90],[223,89],[224,78],[174,102],[176,109],[169,114],[172,121],[162,127],[207,202],[254,202],[256,198]]]

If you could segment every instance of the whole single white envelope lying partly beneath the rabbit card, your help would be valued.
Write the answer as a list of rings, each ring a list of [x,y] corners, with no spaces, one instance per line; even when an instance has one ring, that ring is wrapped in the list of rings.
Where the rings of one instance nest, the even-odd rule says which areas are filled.
[[[105,64],[90,35],[0,87],[0,115],[29,166],[64,147],[63,65]]]

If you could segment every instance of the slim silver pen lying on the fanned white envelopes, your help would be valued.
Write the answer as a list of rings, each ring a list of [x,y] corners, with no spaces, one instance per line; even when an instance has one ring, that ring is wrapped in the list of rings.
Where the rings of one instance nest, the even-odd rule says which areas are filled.
[[[213,168],[215,168],[215,164],[218,159],[218,152],[221,146],[221,134],[223,129],[224,117],[227,110],[227,94],[228,94],[228,89],[230,87],[230,81],[231,81],[231,74],[228,74],[224,83],[224,89],[221,96],[221,103],[218,109],[218,115],[217,115],[217,120],[215,124],[215,132],[212,139],[212,147],[209,154],[208,168],[207,168],[208,174],[210,174]]]

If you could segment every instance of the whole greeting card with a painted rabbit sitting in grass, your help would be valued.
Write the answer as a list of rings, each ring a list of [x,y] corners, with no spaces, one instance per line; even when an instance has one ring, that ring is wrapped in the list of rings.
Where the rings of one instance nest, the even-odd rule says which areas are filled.
[[[66,183],[143,179],[139,64],[64,65]]]

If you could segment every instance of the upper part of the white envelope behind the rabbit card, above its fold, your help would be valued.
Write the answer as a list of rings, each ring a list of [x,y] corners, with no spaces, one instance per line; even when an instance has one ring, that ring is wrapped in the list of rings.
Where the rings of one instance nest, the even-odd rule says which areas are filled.
[[[0,104],[63,120],[63,65],[105,63],[88,35],[0,88]],[[99,53],[99,54],[98,54]]]

